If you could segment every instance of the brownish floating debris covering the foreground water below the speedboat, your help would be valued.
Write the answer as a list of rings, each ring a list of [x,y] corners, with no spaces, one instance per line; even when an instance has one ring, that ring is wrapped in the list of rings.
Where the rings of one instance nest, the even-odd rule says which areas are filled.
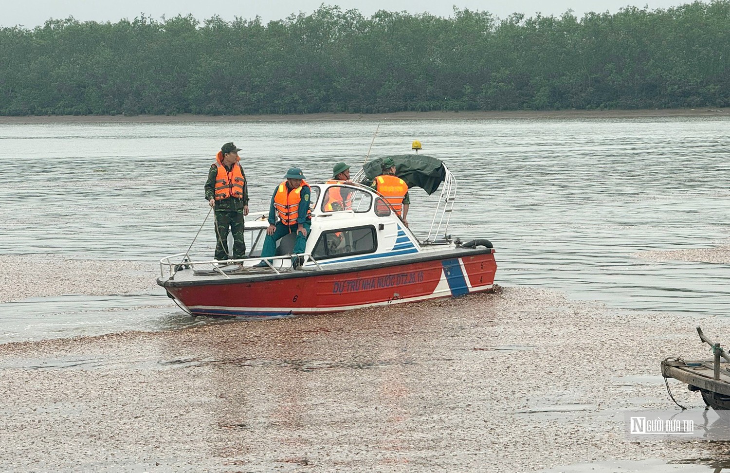
[[[722,318],[623,312],[505,288],[335,315],[0,345],[0,466],[515,472],[647,458],[709,464],[730,455],[710,443],[627,442],[623,434],[623,411],[676,408],[659,361],[706,357],[698,323],[713,335],[730,328]],[[681,404],[702,409],[699,395],[678,382],[672,389]]]

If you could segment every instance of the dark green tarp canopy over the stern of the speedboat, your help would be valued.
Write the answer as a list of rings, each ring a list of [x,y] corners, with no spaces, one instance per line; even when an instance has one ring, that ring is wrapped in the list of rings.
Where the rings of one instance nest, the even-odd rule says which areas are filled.
[[[426,193],[436,192],[446,177],[446,169],[440,159],[426,155],[395,155],[375,158],[363,165],[363,171],[370,183],[383,174],[383,160],[391,158],[396,164],[396,176],[406,182],[409,188],[420,187]]]

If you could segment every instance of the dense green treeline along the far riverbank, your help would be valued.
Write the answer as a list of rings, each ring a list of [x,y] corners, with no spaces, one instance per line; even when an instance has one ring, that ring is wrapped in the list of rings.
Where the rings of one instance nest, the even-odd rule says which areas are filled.
[[[499,20],[320,7],[0,28],[0,115],[730,106],[730,0]]]

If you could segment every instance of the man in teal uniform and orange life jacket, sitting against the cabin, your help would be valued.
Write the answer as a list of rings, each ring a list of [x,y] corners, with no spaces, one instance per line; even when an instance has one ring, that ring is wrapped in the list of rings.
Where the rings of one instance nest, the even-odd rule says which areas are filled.
[[[276,253],[276,242],[283,236],[296,231],[296,242],[293,253],[304,253],[307,246],[307,235],[312,226],[310,210],[310,185],[304,181],[304,174],[299,168],[290,168],[285,181],[277,185],[269,206],[269,228],[266,228],[264,248],[261,256],[273,256]],[[278,221],[277,221],[278,217]],[[268,266],[264,260],[256,267]]]

